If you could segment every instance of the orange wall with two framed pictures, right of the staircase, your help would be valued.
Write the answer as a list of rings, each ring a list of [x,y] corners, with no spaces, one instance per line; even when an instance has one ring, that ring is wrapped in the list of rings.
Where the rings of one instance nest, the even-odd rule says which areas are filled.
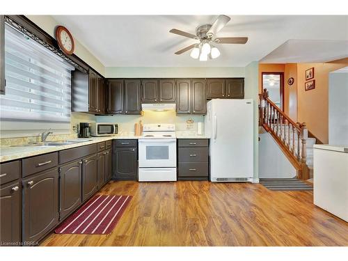
[[[329,143],[329,72],[348,65],[348,58],[330,63],[297,64],[298,120],[323,143]],[[315,89],[305,90],[305,73],[314,67]]]

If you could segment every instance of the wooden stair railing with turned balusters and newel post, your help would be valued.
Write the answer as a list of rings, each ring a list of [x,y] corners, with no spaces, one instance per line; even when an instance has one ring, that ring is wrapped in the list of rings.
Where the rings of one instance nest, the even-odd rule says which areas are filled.
[[[294,122],[268,98],[264,89],[260,97],[259,123],[271,134],[285,156],[296,168],[300,180],[308,180],[309,170],[306,164],[306,123]]]

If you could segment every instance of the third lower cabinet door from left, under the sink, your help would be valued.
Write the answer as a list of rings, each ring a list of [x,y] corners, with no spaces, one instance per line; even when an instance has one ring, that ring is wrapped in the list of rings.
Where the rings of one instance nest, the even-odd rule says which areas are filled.
[[[82,161],[74,161],[60,168],[60,219],[64,219],[74,209],[79,207],[82,202],[81,186],[82,186]]]

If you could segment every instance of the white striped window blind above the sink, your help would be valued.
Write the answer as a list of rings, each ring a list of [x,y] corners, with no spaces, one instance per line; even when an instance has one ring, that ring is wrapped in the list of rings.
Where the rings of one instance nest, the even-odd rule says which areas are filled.
[[[70,122],[72,65],[6,25],[1,120]]]

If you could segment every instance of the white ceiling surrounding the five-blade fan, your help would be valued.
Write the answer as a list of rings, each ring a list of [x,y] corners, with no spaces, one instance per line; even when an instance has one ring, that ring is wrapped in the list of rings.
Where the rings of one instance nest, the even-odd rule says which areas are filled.
[[[219,45],[221,56],[194,60],[179,49],[196,42],[172,28],[195,33],[216,15],[54,15],[106,67],[234,67],[259,61],[290,39],[348,40],[348,16],[229,15],[219,37],[247,36],[246,45]]]

